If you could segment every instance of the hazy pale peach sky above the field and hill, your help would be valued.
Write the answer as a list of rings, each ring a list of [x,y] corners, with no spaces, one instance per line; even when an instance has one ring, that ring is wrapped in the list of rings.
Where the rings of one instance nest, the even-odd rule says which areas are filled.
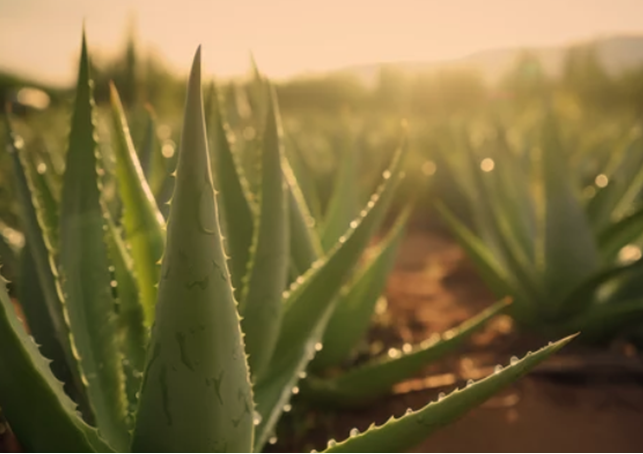
[[[122,46],[135,13],[144,48],[180,71],[269,76],[355,63],[441,60],[494,47],[643,32],[643,0],[0,0],[0,68],[69,83],[85,19],[94,53]]]

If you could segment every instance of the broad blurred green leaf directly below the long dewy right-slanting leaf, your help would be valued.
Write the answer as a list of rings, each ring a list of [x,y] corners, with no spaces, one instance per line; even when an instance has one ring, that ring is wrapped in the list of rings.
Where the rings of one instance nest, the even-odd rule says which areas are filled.
[[[407,207],[357,277],[344,286],[324,332],[324,348],[311,367],[321,370],[345,360],[368,331],[375,305],[386,287],[411,213]]]

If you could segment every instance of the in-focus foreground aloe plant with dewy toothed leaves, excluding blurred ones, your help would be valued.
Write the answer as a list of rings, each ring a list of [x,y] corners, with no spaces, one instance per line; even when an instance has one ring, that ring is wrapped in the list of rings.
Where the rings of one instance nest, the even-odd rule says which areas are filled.
[[[18,320],[4,285],[0,286],[3,414],[23,447],[33,451],[260,451],[322,347],[329,320],[343,299],[336,296],[402,177],[404,148],[338,244],[312,261],[282,295],[293,256],[289,246],[308,239],[291,238],[298,232],[291,226],[304,214],[294,182],[284,171],[280,121],[271,95],[261,149],[258,210],[249,208],[251,213],[257,210],[257,227],[245,240],[250,242],[250,258],[247,274],[237,278],[242,285],[237,305],[235,268],[228,267],[226,251],[238,241],[234,233],[240,231],[234,226],[245,211],[230,206],[219,211],[214,185],[224,200],[229,194],[229,200],[237,197],[237,203],[253,202],[241,192],[243,185],[236,185],[235,196],[224,183],[225,172],[215,172],[213,179],[200,50],[188,82],[167,230],[138,163],[115,89],[112,108],[122,221],[112,218],[100,192],[104,170],[97,155],[84,38],[59,206],[42,203],[43,189],[25,177],[24,146],[7,122],[7,149],[14,158],[17,189],[23,197],[28,245],[24,253],[33,261],[33,266],[28,262],[25,266],[37,272],[39,287],[39,292],[24,292],[29,301],[22,304],[40,305],[32,313],[48,321],[50,328],[49,336],[34,331],[34,342]],[[239,172],[233,159],[225,163],[229,149],[219,147],[217,153],[215,166],[228,165],[228,170]],[[240,178],[240,173],[235,174]],[[58,226],[49,224],[55,217],[48,213],[59,213]],[[225,240],[224,220],[229,235]],[[398,238],[399,228],[393,232],[393,238]],[[143,237],[148,243],[135,247]],[[159,249],[162,259],[157,270]],[[364,282],[381,272],[380,266],[374,269],[377,272],[365,271],[367,278],[357,278],[362,284],[355,292],[368,293]],[[149,288],[143,291],[142,286]],[[157,295],[155,306],[149,302],[150,293]],[[449,342],[499,309],[491,309],[436,345],[448,348]],[[27,314],[30,328],[36,326],[34,322]],[[512,361],[493,376],[361,435],[353,434],[345,442],[329,442],[327,451],[408,449],[568,341]],[[52,346],[59,353],[51,358],[50,368],[51,359],[43,354]],[[435,356],[437,350],[429,347],[421,346],[405,355],[404,361],[422,363],[427,351]],[[381,366],[386,383],[399,378],[390,364]],[[57,367],[66,371],[73,392],[63,389]],[[364,383],[360,373],[346,378],[351,387]],[[82,414],[76,410],[77,403]]]

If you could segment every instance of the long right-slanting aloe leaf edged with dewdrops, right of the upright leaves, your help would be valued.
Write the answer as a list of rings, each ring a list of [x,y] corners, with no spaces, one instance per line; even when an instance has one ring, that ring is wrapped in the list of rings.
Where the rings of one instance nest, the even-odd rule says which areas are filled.
[[[274,429],[300,374],[322,346],[320,341],[335,308],[335,296],[349,278],[404,177],[401,169],[407,151],[404,141],[385,172],[384,183],[371,197],[361,218],[349,228],[325,262],[314,264],[285,294],[286,312],[270,369],[255,386],[257,410],[262,416],[257,428],[257,451]]]

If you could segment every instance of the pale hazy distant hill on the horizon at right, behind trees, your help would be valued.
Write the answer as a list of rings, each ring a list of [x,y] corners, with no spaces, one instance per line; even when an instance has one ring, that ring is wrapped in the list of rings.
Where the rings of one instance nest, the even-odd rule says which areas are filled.
[[[643,64],[643,36],[612,36],[599,38],[587,43],[596,45],[601,62],[612,74]],[[509,71],[516,57],[524,50],[537,55],[547,74],[560,74],[567,46],[552,47],[523,47],[491,49],[473,53],[464,58],[448,61],[402,61],[391,63],[375,63],[369,65],[349,66],[334,72],[348,73],[357,76],[364,83],[371,85],[377,80],[378,73],[383,67],[393,67],[408,74],[429,72],[446,68],[472,68],[482,74],[489,82],[497,81]]]

